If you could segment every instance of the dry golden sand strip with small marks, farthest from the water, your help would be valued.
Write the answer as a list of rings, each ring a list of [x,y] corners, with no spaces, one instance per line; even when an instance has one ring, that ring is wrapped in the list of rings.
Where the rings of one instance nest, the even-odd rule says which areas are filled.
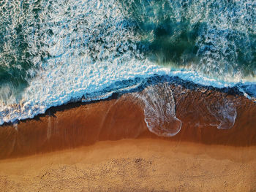
[[[255,191],[256,147],[97,142],[0,161],[1,191]]]

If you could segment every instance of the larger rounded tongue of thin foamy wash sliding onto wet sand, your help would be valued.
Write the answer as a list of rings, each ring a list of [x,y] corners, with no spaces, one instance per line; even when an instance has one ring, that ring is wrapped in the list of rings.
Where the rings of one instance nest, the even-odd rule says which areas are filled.
[[[132,95],[144,104],[144,120],[149,131],[160,137],[173,137],[178,134],[182,123],[176,118],[176,104],[170,85],[152,85],[142,93]]]

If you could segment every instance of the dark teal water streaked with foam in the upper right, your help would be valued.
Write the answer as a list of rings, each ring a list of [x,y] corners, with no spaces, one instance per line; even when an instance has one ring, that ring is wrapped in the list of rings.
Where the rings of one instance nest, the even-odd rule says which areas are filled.
[[[256,72],[255,1],[121,1],[151,61],[211,77]]]

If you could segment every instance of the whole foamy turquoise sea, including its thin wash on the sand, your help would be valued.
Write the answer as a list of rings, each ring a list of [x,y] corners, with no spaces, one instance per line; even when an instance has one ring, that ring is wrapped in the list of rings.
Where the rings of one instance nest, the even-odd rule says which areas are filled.
[[[104,99],[155,74],[236,86],[256,98],[256,1],[0,1],[0,125]],[[157,91],[147,88],[140,99],[155,103]],[[181,122],[167,96],[170,106],[157,101],[176,124],[172,136]],[[151,130],[153,116],[163,122],[161,110],[145,114]]]

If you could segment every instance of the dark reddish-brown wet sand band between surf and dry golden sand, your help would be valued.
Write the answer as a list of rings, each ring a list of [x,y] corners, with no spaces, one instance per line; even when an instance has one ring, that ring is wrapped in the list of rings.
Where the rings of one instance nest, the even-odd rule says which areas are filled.
[[[237,147],[256,145],[254,102],[232,92],[188,87],[170,84],[176,117],[182,126],[176,136],[161,139]],[[148,131],[143,105],[131,94],[53,107],[34,119],[0,126],[0,159],[92,145],[98,141],[159,138]],[[236,104],[236,122],[232,128],[219,129],[212,126],[219,123],[212,114],[216,109],[207,109],[217,106],[218,102],[225,104],[227,99]],[[218,112],[217,109],[217,115]]]

